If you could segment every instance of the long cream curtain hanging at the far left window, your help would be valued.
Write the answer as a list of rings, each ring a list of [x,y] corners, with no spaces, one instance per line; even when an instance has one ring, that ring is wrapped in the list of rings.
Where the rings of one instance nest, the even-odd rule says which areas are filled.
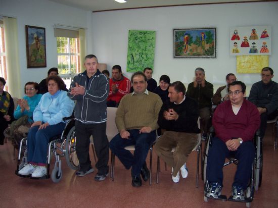
[[[13,97],[21,97],[17,20],[4,17],[3,21],[9,93]]]

